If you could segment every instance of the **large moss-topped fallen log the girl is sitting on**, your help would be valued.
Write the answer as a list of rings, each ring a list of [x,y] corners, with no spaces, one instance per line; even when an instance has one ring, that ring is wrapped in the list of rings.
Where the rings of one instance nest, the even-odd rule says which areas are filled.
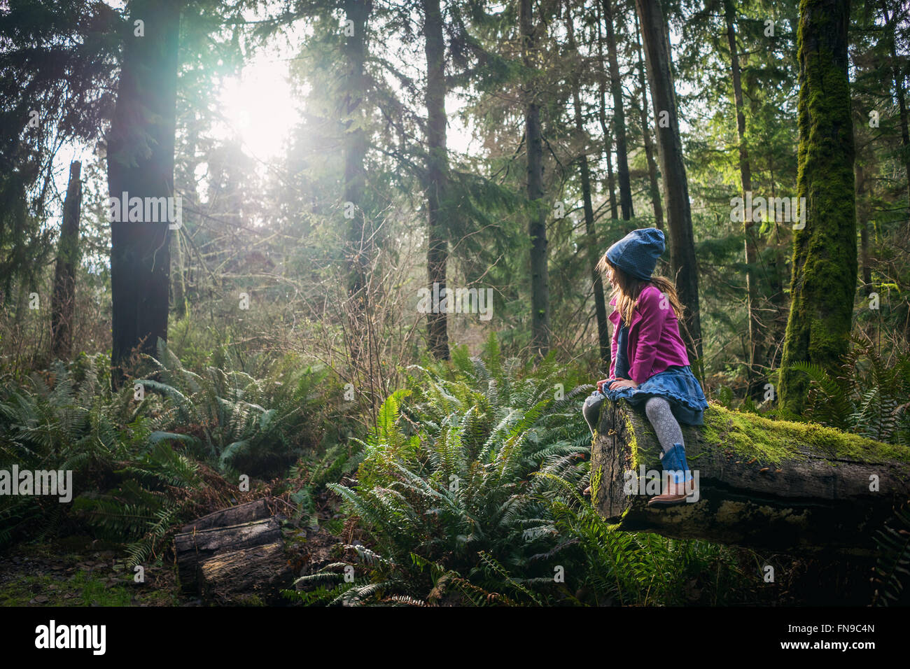
[[[862,556],[875,552],[875,530],[910,497],[908,448],[715,404],[704,423],[682,430],[698,492],[676,506],[649,508],[661,446],[642,412],[624,400],[604,401],[591,446],[598,512],[623,530]],[[656,481],[651,490],[649,481]]]

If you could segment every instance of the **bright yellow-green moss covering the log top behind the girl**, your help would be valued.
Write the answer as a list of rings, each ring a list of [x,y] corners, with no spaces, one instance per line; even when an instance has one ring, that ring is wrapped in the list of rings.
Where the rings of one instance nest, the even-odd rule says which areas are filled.
[[[703,441],[722,445],[743,458],[770,464],[804,461],[807,452],[832,460],[910,462],[910,448],[873,441],[817,423],[771,421],[712,403],[704,412]],[[833,462],[832,464],[836,464]]]

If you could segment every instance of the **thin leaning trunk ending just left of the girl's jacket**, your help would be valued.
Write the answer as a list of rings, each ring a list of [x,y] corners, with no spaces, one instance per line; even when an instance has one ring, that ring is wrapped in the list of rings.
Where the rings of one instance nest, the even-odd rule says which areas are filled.
[[[581,115],[581,58],[575,45],[575,31],[572,25],[571,12],[566,16],[566,30],[569,35],[569,47],[572,53],[579,58],[579,63],[572,68],[572,106],[575,111],[575,133],[579,137],[581,154],[578,157],[581,171],[581,199],[584,205],[584,232],[587,248],[588,264],[591,269],[591,281],[594,285],[594,310],[597,314],[597,340],[601,350],[601,364],[603,372],[610,370],[611,340],[610,326],[607,319],[607,303],[603,298],[603,279],[597,271],[597,261],[600,259],[600,248],[597,244],[597,233],[594,228],[594,206],[591,201],[591,172],[588,166],[588,136],[584,131],[584,120]]]

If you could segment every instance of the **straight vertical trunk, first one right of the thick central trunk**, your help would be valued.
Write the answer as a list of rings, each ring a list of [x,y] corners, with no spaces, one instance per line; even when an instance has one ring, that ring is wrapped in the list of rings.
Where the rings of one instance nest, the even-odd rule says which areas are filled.
[[[531,238],[531,350],[544,356],[550,350],[550,278],[547,266],[547,220],[543,206],[543,137],[541,106],[537,102],[539,26],[533,25],[531,0],[521,0],[519,6],[521,31],[521,60],[529,73],[524,91],[524,132],[528,155],[528,200],[531,218],[528,234]]]

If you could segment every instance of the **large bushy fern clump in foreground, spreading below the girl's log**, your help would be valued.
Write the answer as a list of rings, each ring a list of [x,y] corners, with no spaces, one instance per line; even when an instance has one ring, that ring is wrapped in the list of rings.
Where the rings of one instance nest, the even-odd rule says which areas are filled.
[[[298,579],[288,597],[346,605],[723,601],[742,577],[732,552],[617,532],[581,495],[591,432],[580,408],[591,386],[579,381],[552,358],[536,369],[503,360],[495,337],[480,358],[460,348],[450,365],[412,368],[362,442],[357,480],[329,485],[368,545],[345,545],[343,561]]]

